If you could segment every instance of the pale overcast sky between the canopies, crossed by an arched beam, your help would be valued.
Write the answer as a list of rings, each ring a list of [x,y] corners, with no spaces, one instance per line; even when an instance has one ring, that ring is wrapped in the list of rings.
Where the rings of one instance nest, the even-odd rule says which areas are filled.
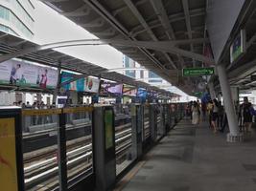
[[[53,11],[37,0],[34,2],[35,43],[43,45],[67,40],[97,39],[96,36],[60,15],[57,11]],[[123,66],[123,53],[108,45],[81,46],[56,50],[107,69],[122,68]]]

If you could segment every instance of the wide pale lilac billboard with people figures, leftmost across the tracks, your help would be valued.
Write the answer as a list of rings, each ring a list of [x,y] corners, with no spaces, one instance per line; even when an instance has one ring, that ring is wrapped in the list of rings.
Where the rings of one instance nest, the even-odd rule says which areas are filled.
[[[0,84],[55,89],[58,71],[22,61],[9,60],[0,64]]]

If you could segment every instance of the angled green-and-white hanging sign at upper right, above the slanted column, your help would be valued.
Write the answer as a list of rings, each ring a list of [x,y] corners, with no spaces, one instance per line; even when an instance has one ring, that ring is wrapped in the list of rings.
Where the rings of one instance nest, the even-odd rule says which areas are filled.
[[[241,30],[234,42],[230,46],[230,62],[236,61],[243,53],[245,53],[245,31]]]

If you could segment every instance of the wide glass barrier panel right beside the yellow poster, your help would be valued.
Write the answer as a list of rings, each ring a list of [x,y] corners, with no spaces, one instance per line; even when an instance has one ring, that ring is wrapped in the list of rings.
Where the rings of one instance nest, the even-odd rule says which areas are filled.
[[[35,112],[22,118],[25,190],[54,190],[58,188],[58,116]]]

